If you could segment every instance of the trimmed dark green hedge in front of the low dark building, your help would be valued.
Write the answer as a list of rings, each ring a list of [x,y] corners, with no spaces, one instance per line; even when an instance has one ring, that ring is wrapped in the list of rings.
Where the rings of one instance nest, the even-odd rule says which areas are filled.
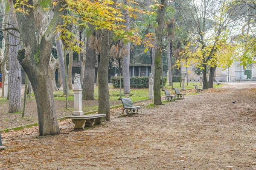
[[[111,77],[111,82],[114,88],[119,88],[119,79],[120,77]],[[166,85],[166,77],[163,77],[163,86]],[[121,77],[122,88],[123,85],[123,77]],[[130,87],[131,88],[148,88],[148,77],[130,77]],[[161,87],[162,87],[162,77],[161,77]]]

